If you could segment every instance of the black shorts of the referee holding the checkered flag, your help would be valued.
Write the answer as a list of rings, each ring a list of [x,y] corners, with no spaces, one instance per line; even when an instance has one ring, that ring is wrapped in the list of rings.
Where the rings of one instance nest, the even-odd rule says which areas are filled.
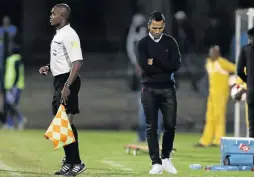
[[[57,114],[58,108],[61,101],[61,91],[66,83],[70,73],[61,74],[54,77],[54,95],[52,101],[52,113],[55,116]],[[70,95],[68,101],[65,105],[67,114],[78,114],[79,110],[79,99],[78,93],[81,87],[81,79],[78,76],[75,81],[70,86]]]

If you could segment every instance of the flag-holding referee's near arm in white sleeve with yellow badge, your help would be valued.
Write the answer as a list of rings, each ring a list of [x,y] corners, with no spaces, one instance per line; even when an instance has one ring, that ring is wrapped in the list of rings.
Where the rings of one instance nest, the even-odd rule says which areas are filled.
[[[69,59],[72,62],[72,68],[66,83],[72,85],[74,80],[77,78],[79,70],[83,63],[80,39],[78,36],[72,36],[64,39],[63,44],[66,48]]]

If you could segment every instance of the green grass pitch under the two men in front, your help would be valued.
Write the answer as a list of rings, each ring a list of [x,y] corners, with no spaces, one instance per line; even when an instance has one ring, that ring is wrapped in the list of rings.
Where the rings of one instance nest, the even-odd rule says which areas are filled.
[[[37,130],[0,131],[0,161],[15,169],[0,169],[0,177],[15,176],[17,173],[23,177],[53,176],[52,173],[59,168],[63,150],[54,152],[51,142],[44,139],[43,134],[44,131]],[[138,154],[138,156],[127,155],[124,150],[126,143],[131,143],[136,139],[135,133],[80,131],[79,137],[81,157],[88,168],[79,176],[149,176],[148,171],[151,166],[148,155],[146,153]],[[189,169],[189,164],[192,163],[202,165],[220,163],[219,148],[195,149],[192,147],[198,138],[199,135],[196,134],[177,133],[175,141],[177,152],[173,157],[173,163],[178,170],[178,175],[164,172],[161,176],[253,176],[253,172],[209,172]],[[16,173],[13,174],[13,171]]]

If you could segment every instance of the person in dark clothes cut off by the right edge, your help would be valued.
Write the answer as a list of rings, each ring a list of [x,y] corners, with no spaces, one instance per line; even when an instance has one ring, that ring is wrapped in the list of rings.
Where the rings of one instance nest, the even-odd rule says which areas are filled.
[[[250,43],[244,45],[240,51],[237,75],[247,84],[249,137],[254,138],[254,28],[248,30],[248,37]]]

